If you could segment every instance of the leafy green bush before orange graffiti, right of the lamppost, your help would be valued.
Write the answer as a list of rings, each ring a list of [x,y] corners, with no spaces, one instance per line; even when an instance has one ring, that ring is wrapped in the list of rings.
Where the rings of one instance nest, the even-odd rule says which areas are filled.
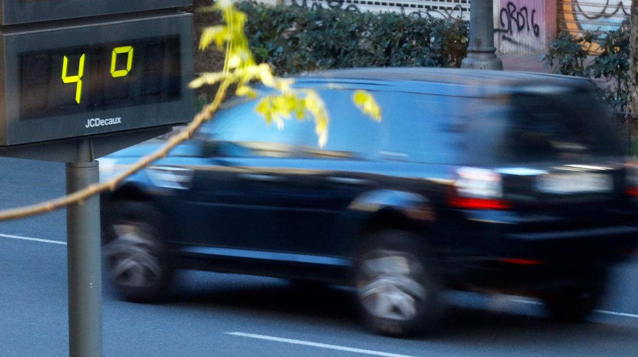
[[[589,65],[588,49],[591,43],[600,48]],[[586,32],[578,38],[560,33],[544,57],[545,67],[554,73],[605,79],[600,95],[616,112],[625,112],[629,89],[629,29]]]

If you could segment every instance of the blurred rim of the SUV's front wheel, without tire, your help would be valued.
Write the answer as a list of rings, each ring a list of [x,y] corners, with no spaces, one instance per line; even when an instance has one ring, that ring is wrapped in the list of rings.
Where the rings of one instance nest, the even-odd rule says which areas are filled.
[[[151,229],[138,222],[120,222],[111,226],[115,238],[104,247],[110,258],[110,274],[117,284],[148,287],[162,275],[158,259],[158,243]]]

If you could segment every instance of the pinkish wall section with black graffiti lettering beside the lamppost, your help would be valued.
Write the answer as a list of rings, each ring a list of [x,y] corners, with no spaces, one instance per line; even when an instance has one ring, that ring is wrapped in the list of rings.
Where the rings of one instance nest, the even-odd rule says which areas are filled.
[[[544,50],[545,8],[542,0],[501,0],[498,34],[501,52]]]

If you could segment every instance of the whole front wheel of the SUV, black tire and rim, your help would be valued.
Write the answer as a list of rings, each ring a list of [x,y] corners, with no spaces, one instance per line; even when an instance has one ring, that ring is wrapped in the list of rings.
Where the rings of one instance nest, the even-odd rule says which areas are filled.
[[[102,247],[110,280],[125,300],[162,300],[174,273],[165,245],[167,221],[144,202],[119,201],[113,206]]]

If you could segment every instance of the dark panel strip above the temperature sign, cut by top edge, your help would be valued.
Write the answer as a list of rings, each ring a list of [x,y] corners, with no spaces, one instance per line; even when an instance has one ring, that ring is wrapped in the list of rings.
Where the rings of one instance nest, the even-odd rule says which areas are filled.
[[[189,6],[192,0],[0,0],[1,24],[73,19]]]

